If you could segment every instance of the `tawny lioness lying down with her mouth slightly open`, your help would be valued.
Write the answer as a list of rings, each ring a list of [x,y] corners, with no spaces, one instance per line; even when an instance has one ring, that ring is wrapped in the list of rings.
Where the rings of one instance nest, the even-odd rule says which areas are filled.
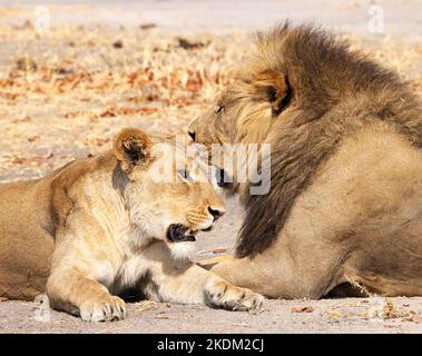
[[[225,207],[179,150],[174,179],[153,179],[168,162],[155,144],[125,129],[114,150],[1,185],[0,296],[32,299],[47,289],[52,307],[90,322],[124,318],[118,295],[128,287],[159,301],[258,307],[262,296],[189,261],[194,235]]]

